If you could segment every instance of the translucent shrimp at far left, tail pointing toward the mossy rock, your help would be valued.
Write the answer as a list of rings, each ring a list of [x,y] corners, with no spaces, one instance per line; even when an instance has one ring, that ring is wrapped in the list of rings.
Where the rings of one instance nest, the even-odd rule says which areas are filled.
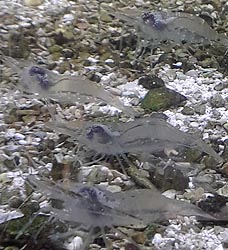
[[[82,76],[58,75],[38,65],[27,65],[21,69],[20,62],[10,57],[3,57],[3,62],[20,76],[19,88],[26,93],[38,93],[41,98],[70,104],[73,102],[90,103],[98,100],[112,105],[130,116],[136,115],[133,108],[124,106],[116,96],[101,85]],[[26,65],[26,62],[24,64]]]

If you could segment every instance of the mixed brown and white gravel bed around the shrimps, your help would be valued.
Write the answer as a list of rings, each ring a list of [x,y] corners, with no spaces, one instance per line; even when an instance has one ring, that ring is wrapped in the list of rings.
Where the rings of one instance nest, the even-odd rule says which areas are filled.
[[[34,64],[42,65],[58,74],[83,75],[102,85],[124,105],[133,108],[138,116],[148,115],[148,110],[140,106],[148,89],[138,84],[139,79],[145,75],[156,75],[163,80],[165,87],[187,98],[176,106],[158,110],[159,113],[166,115],[167,121],[178,129],[198,135],[211,144],[224,160],[223,166],[217,166],[209,156],[200,155],[197,158],[193,153],[192,158],[188,158],[185,155],[179,163],[192,170],[183,171],[185,174],[188,172],[188,187],[182,190],[161,190],[165,191],[164,195],[169,198],[191,201],[194,204],[218,193],[225,197],[226,203],[228,77],[219,67],[223,54],[219,54],[218,48],[218,53],[213,54],[210,46],[192,45],[189,49],[194,52],[192,54],[185,47],[176,46],[167,49],[167,53],[162,48],[155,50],[153,55],[146,51],[136,59],[135,29],[110,16],[108,9],[120,11],[124,7],[136,6],[142,11],[148,8],[165,8],[202,14],[208,16],[209,20],[212,17],[215,29],[228,34],[228,3],[216,0],[150,2],[0,1],[0,53],[18,58],[22,68],[25,60],[31,61],[31,65],[35,62]],[[197,53],[201,53],[200,56]],[[187,69],[183,66],[186,61]],[[151,62],[154,64],[152,69]],[[224,67],[227,67],[227,64]],[[139,166],[139,178],[138,172],[134,173],[137,175],[135,178],[126,178],[120,168],[115,168],[115,164],[109,162],[101,161],[87,166],[81,162],[81,159],[86,159],[84,152],[79,155],[78,148],[75,148],[72,141],[66,141],[66,137],[45,125],[53,116],[66,121],[98,122],[125,122],[132,117],[105,103],[65,105],[44,100],[35,93],[30,96],[22,94],[21,87],[18,86],[18,76],[13,73],[14,69],[0,65],[1,225],[6,221],[13,221],[14,218],[23,218],[24,212],[17,208],[28,198],[29,191],[25,187],[28,175],[51,175],[56,181],[66,177],[65,171],[65,174],[70,172],[72,180],[75,178],[79,182],[90,182],[95,176],[96,184],[112,192],[153,187],[154,183],[152,184],[149,178],[150,163],[142,164],[136,161]],[[50,111],[54,109],[50,115]],[[172,156],[172,153],[170,155]],[[172,159],[175,160],[175,152],[173,155]],[[32,200],[41,206],[46,202],[38,193],[32,195]],[[22,228],[24,222],[20,223]],[[0,236],[0,249],[9,250],[11,246],[15,250],[29,249],[29,243],[24,241],[20,243],[22,245],[14,245],[16,243],[12,236],[6,236],[4,233],[7,225],[0,228],[2,235],[7,238],[5,241]],[[194,217],[178,217],[169,220],[169,223],[161,228],[157,225],[154,228],[148,229],[144,226],[121,230],[132,237],[142,249],[228,249],[226,223],[205,224],[197,222]],[[16,237],[15,232],[8,234]],[[113,249],[138,249],[127,245],[127,240],[121,239],[117,233],[109,232],[107,235],[108,240],[113,242]],[[65,238],[61,240],[64,246],[61,249],[81,249],[83,237],[73,235]],[[97,240],[89,249],[107,249],[103,245],[103,242]],[[46,247],[39,249],[60,249],[56,246]]]

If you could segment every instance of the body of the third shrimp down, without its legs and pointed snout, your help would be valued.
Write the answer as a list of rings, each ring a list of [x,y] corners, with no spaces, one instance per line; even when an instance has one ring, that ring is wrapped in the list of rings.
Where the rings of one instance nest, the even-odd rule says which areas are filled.
[[[104,125],[96,125],[96,129],[93,127],[89,132],[90,136],[87,135],[86,138],[87,145],[100,153],[153,154],[165,148],[187,147],[205,152],[218,162],[222,161],[221,157],[201,139],[176,129],[162,119],[141,118],[133,122],[120,123],[119,126],[116,125],[116,133],[102,126]]]

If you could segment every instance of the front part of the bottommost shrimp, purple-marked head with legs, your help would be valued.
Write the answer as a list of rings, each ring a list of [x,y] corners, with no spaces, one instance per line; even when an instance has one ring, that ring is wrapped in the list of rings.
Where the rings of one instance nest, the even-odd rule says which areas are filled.
[[[51,212],[56,219],[75,223],[78,229],[88,231],[82,250],[88,249],[97,228],[100,229],[100,233],[104,233],[106,227],[114,229],[115,226],[142,225],[140,218],[128,214],[127,210],[119,210],[119,201],[113,199],[112,193],[106,190],[82,184],[69,186],[66,190],[61,184],[53,184],[48,179],[39,180],[33,176],[29,176],[27,181],[36,191],[61,203],[61,209],[49,206],[42,211]],[[105,235],[103,238],[106,242]]]

